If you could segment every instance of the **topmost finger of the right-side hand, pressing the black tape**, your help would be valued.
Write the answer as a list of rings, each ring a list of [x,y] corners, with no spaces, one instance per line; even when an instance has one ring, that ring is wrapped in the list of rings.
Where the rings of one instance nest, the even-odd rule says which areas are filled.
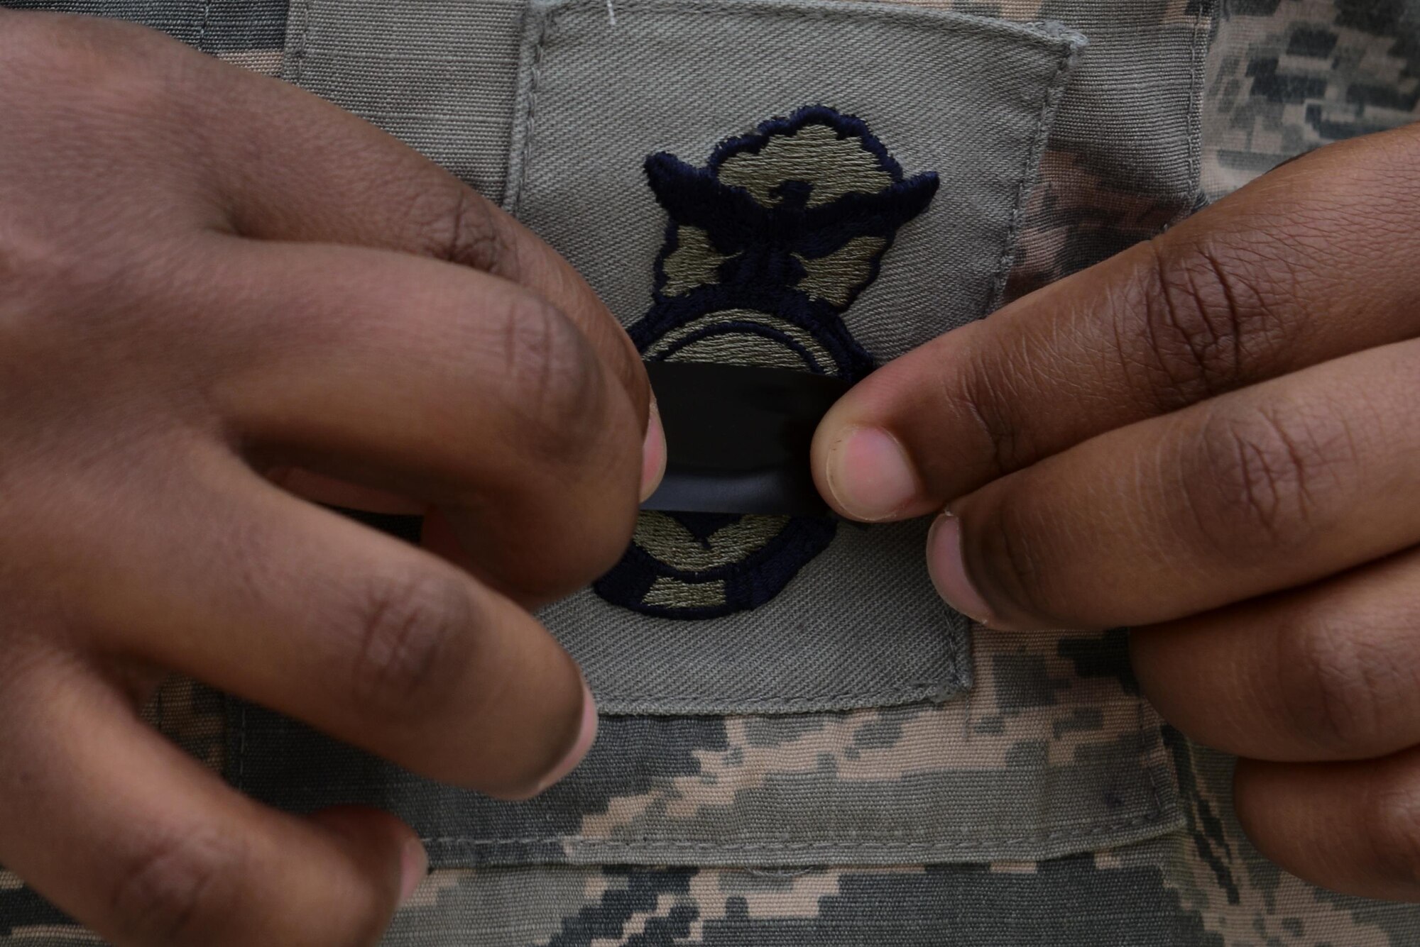
[[[814,441],[845,516],[905,519],[1096,434],[1420,329],[1420,126],[1319,149],[895,360]]]

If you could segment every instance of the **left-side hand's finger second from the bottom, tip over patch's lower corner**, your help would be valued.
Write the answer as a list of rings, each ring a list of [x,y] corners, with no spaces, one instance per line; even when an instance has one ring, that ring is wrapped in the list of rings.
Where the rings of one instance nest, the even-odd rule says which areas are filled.
[[[493,795],[531,795],[586,753],[581,673],[523,608],[230,456],[182,468],[162,496],[111,503],[122,556],[65,568],[68,612],[105,649]]]

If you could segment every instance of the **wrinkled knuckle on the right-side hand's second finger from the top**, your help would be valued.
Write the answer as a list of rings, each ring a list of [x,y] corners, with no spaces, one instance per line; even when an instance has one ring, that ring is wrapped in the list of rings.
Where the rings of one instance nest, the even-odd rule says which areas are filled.
[[[1181,489],[1203,543],[1244,563],[1305,546],[1321,495],[1355,459],[1343,420],[1301,408],[1217,410],[1184,459]]]

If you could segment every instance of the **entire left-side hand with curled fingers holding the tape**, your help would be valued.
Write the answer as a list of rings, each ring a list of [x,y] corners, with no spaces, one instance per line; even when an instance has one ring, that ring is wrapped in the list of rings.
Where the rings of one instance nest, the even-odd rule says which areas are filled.
[[[121,944],[371,941],[406,826],[258,807],[136,709],[175,671],[494,795],[567,773],[595,709],[527,607],[655,486],[636,352],[416,153],[155,33],[0,11],[0,862]],[[270,468],[436,508],[473,574]]]

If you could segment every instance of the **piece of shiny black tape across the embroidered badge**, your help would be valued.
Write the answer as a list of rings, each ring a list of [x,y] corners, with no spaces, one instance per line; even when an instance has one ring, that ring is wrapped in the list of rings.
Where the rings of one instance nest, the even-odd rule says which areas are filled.
[[[839,379],[736,364],[648,362],[666,476],[642,509],[826,516],[814,486],[814,428],[848,388]]]

